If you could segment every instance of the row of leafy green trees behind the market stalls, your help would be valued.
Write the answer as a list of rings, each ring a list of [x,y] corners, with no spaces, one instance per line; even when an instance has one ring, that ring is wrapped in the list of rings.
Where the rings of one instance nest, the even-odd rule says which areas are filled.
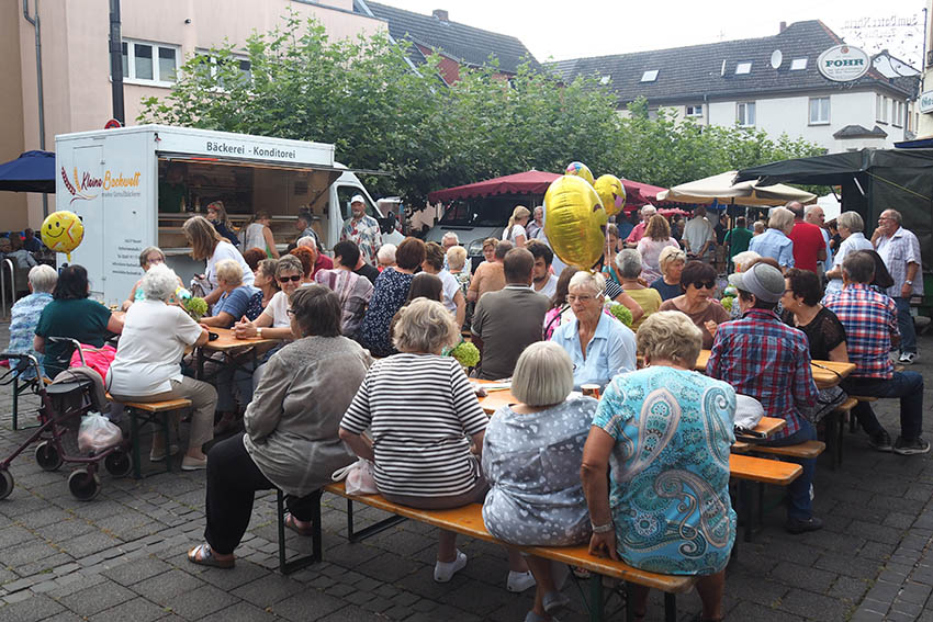
[[[385,34],[330,41],[324,26],[286,15],[247,43],[249,73],[232,45],[188,59],[169,95],[144,100],[140,122],[334,143],[356,169],[382,170],[367,185],[418,204],[428,192],[581,160],[670,186],[723,170],[819,152],[762,131],[700,127],[637,101],[616,110],[589,78],[561,83],[526,64],[508,80],[494,58],[446,86],[437,60],[413,71],[407,42]]]

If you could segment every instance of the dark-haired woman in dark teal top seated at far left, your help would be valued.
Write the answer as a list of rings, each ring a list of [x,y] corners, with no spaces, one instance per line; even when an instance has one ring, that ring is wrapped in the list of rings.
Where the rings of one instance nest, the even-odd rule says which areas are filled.
[[[50,341],[49,337],[68,337],[100,348],[110,333],[123,331],[123,319],[88,298],[89,293],[88,271],[83,265],[63,268],[52,291],[52,302],[38,317],[34,347],[36,352],[45,354],[45,373],[53,380],[68,369],[75,347],[70,342]]]

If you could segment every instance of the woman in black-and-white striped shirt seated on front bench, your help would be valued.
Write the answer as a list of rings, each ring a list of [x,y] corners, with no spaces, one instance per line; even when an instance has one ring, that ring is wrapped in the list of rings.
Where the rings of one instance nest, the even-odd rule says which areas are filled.
[[[392,502],[457,508],[482,501],[488,489],[471,452],[471,441],[477,454],[483,446],[488,419],[457,360],[440,355],[458,340],[439,302],[418,298],[402,308],[393,336],[400,353],[370,367],[340,422],[340,438],[375,463],[375,485]],[[466,564],[456,538],[440,532],[436,581]]]

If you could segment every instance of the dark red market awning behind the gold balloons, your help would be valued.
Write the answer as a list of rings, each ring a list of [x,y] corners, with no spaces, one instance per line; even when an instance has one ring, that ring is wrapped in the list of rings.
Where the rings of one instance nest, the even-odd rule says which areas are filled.
[[[428,194],[428,201],[431,203],[450,203],[457,200],[493,196],[495,194],[544,194],[551,182],[559,177],[561,176],[552,172],[530,170],[446,190],[436,190]],[[627,212],[645,203],[654,203],[657,200],[657,193],[665,190],[627,179],[622,180],[622,185],[626,186]]]

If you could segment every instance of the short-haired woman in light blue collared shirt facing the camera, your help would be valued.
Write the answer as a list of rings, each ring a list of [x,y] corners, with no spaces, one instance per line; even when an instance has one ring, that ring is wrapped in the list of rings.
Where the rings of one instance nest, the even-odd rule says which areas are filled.
[[[581,270],[570,280],[566,299],[574,321],[554,329],[551,341],[573,361],[573,384],[605,386],[612,376],[636,369],[634,333],[603,313],[606,280]]]

